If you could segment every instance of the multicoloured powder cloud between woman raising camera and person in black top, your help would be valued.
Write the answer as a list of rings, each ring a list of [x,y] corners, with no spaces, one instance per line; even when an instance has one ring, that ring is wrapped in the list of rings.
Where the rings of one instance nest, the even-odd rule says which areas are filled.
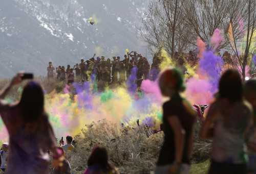
[[[93,83],[75,83],[74,97],[70,96],[72,92],[47,94],[46,110],[58,137],[76,135],[84,125],[100,119],[120,125],[120,122],[128,124],[151,116],[156,120],[155,126],[159,126],[161,102],[157,82],[144,82],[144,86],[147,89],[144,91],[143,88],[142,95],[136,98],[136,93],[131,93],[124,87],[95,92]]]

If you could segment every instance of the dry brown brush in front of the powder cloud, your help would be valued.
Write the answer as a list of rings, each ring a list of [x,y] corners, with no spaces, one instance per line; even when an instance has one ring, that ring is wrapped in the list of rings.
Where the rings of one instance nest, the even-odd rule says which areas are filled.
[[[80,135],[75,137],[76,150],[71,156],[74,174],[81,174],[87,167],[87,160],[95,145],[105,146],[109,152],[110,161],[120,173],[150,173],[154,171],[161,148],[163,133],[147,137],[143,127],[119,128],[107,120],[94,122],[87,126]],[[191,173],[204,173],[208,168],[210,143],[195,139]],[[200,165],[202,164],[202,165]],[[204,166],[204,168],[200,167]]]

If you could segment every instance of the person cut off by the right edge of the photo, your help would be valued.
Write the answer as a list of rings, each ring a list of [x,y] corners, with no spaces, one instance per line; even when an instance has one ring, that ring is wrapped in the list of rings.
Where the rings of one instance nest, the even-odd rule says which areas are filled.
[[[247,165],[248,173],[256,173],[256,79],[250,79],[245,83],[244,96],[252,105],[254,111],[253,126],[248,132],[248,155],[249,163]]]

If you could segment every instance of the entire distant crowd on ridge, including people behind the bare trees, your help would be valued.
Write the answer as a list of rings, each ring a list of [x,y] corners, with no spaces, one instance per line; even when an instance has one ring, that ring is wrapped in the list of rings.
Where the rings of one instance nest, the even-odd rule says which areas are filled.
[[[104,56],[97,58],[95,56],[96,54],[92,58],[81,58],[80,62],[76,63],[73,68],[71,65],[67,65],[67,68],[61,65],[54,67],[53,63],[49,62],[47,77],[67,84],[72,84],[74,81],[93,81],[101,82],[103,86],[121,84],[132,78],[137,87],[140,87],[143,80],[155,81],[157,79],[160,73],[160,64],[164,61],[161,51],[154,55],[151,65],[146,57],[134,51],[126,53],[123,58],[113,57],[112,60]],[[225,52],[223,60],[230,63],[230,59],[230,54]],[[187,63],[191,67],[195,67],[199,58],[195,51],[189,51],[189,53],[181,55],[176,52],[174,60],[182,73],[188,74],[184,64]]]

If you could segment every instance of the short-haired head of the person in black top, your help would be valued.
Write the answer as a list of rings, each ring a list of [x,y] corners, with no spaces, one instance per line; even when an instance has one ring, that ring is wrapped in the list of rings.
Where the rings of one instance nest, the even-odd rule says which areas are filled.
[[[185,86],[181,72],[177,68],[165,69],[160,74],[159,87],[164,96],[172,96],[176,92],[183,92]]]

